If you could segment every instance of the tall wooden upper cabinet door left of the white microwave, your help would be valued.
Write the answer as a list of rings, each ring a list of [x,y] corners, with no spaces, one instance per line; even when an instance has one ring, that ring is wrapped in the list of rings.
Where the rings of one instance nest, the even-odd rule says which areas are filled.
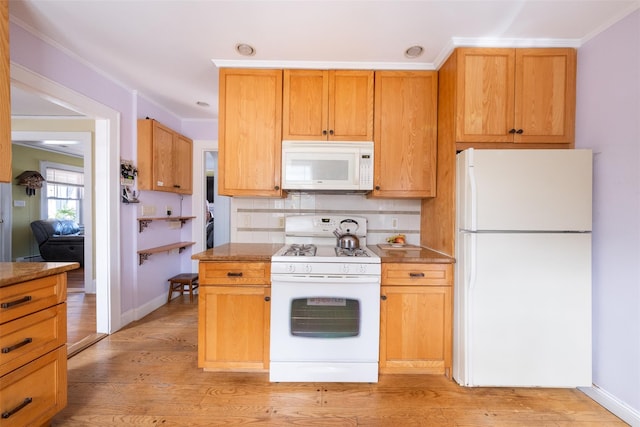
[[[282,70],[220,70],[218,192],[279,197]]]

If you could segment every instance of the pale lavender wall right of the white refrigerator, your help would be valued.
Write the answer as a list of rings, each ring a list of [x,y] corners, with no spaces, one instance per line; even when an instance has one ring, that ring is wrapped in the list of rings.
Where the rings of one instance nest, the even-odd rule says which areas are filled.
[[[577,94],[576,148],[595,153],[591,394],[640,425],[640,11],[579,49]]]

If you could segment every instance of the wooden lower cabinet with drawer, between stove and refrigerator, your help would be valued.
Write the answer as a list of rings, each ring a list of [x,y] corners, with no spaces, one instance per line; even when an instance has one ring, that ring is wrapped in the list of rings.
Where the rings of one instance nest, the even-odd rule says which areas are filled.
[[[452,264],[382,264],[380,373],[451,377],[452,286]]]

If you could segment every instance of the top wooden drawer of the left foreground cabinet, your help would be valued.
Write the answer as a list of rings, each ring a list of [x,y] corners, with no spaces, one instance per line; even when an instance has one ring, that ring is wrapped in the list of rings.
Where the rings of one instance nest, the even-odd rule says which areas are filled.
[[[52,307],[66,299],[66,273],[1,287],[0,323]]]

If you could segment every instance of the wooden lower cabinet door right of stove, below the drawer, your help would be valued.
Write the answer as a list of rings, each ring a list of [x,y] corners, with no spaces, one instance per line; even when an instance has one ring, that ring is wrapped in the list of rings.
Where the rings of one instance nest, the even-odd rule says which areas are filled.
[[[445,374],[451,367],[451,287],[382,286],[380,372]]]

